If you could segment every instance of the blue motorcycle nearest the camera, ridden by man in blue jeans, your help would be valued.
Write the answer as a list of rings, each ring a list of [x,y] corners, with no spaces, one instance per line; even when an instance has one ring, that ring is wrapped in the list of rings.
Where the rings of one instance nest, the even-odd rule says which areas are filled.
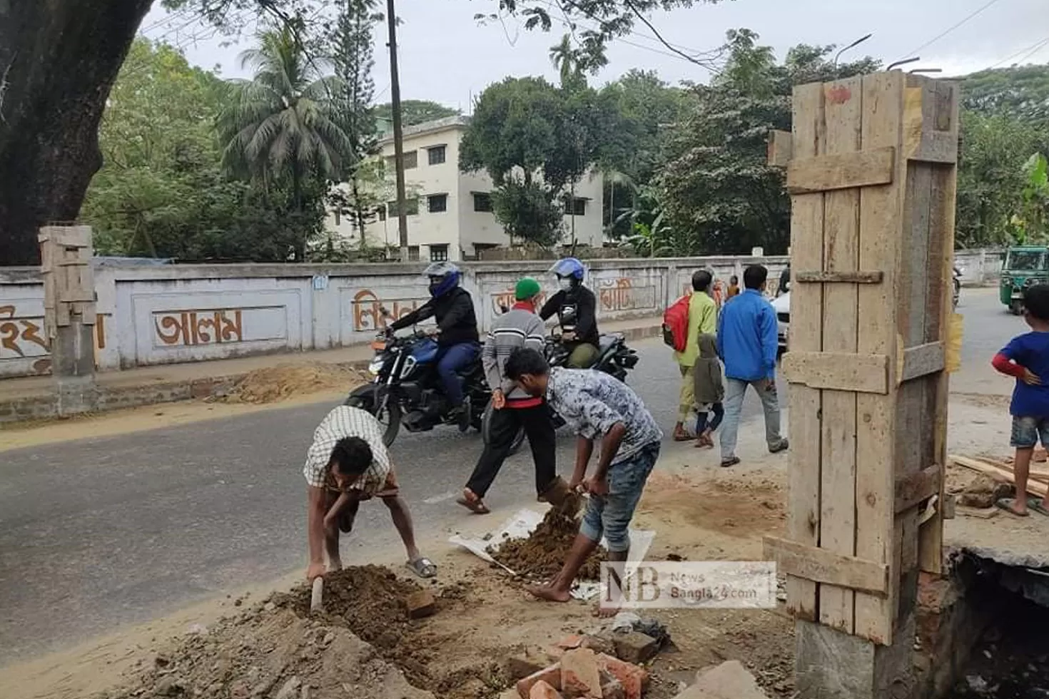
[[[383,315],[386,318],[386,313]],[[458,424],[437,376],[437,343],[433,337],[419,330],[402,336],[387,330],[377,336],[371,347],[376,355],[368,372],[374,378],[355,389],[344,405],[374,415],[385,425],[384,444],[393,443],[402,425],[408,432],[428,432],[438,424]],[[480,430],[492,391],[485,381],[479,358],[459,375],[463,395],[470,400],[470,424]]]

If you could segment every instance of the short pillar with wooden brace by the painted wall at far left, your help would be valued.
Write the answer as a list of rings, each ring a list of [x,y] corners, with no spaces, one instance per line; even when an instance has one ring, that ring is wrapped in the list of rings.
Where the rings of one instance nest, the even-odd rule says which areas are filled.
[[[58,387],[59,415],[92,411],[94,385],[94,275],[91,228],[50,225],[40,230],[44,326]]]

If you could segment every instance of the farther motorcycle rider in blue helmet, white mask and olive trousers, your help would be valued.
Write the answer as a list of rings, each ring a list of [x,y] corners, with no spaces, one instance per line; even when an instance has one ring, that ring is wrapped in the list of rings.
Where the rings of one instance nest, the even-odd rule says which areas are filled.
[[[570,369],[588,369],[597,362],[599,354],[597,331],[597,299],[594,292],[583,286],[586,267],[574,257],[554,263],[550,271],[557,277],[561,289],[552,296],[539,318],[548,320],[557,313],[561,325],[561,342],[568,347]]]

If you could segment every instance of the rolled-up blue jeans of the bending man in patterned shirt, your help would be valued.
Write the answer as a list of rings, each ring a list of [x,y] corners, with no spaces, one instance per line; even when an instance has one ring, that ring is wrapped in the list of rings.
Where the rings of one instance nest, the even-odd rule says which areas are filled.
[[[659,458],[659,442],[652,442],[630,458],[608,467],[608,495],[590,497],[579,533],[598,542],[603,534],[609,551],[621,553],[629,550],[630,520],[645,489],[648,474]]]

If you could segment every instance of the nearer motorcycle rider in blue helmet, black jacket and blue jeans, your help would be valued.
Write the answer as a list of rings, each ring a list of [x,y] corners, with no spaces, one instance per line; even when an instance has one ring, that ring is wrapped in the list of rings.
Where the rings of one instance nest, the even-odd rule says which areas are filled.
[[[434,262],[423,274],[430,278],[430,297],[425,304],[394,321],[390,330],[415,325],[428,318],[437,321],[437,375],[445,389],[445,396],[457,418],[459,430],[470,427],[470,401],[463,398],[463,383],[458,372],[470,366],[480,353],[477,316],[473,298],[459,286],[463,272],[451,262]]]

